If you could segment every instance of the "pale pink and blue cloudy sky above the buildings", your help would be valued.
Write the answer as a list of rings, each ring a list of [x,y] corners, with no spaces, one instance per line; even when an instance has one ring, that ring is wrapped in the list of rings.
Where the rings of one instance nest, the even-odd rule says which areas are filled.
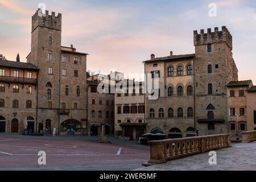
[[[226,26],[240,80],[256,84],[255,0],[0,0],[0,53],[22,61],[31,49],[31,16],[39,3],[62,14],[62,46],[89,53],[87,68],[109,74],[144,72],[142,61],[194,53],[193,30]],[[216,3],[217,16],[209,16]]]

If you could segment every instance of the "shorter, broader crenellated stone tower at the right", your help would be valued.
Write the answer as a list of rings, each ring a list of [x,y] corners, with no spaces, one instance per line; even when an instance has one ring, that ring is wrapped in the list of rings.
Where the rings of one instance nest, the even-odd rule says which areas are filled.
[[[195,116],[200,135],[227,133],[227,89],[229,81],[238,80],[232,57],[232,35],[224,26],[214,32],[208,28],[194,31],[195,46]]]

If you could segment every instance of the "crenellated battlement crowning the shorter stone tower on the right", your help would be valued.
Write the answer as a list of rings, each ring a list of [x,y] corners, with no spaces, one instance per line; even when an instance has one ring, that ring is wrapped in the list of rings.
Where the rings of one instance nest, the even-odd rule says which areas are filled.
[[[200,30],[200,34],[198,34],[197,30],[194,31],[194,46],[220,42],[226,42],[231,49],[233,48],[232,35],[226,26],[223,26],[221,31],[218,31],[218,27],[214,28],[214,32],[212,32],[211,28],[207,29],[207,33],[205,33],[204,29]]]

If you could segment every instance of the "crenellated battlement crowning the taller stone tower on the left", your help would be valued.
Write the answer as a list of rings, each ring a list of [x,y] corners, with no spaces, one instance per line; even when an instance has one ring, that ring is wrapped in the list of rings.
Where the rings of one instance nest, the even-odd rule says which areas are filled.
[[[55,12],[52,11],[51,15],[49,15],[49,11],[46,10],[45,14],[41,14],[41,11],[39,10],[40,9],[38,9],[36,13],[32,16],[32,31],[34,31],[35,28],[38,26],[61,30],[60,13],[56,16]]]

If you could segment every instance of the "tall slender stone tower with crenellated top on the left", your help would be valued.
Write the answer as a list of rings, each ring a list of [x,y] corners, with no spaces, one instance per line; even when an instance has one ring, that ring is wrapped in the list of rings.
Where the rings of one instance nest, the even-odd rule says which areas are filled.
[[[32,16],[31,53],[28,63],[40,69],[38,75],[38,123],[51,120],[51,127],[58,128],[60,108],[60,53],[61,14],[40,16],[39,10]],[[38,127],[36,127],[38,129]]]

